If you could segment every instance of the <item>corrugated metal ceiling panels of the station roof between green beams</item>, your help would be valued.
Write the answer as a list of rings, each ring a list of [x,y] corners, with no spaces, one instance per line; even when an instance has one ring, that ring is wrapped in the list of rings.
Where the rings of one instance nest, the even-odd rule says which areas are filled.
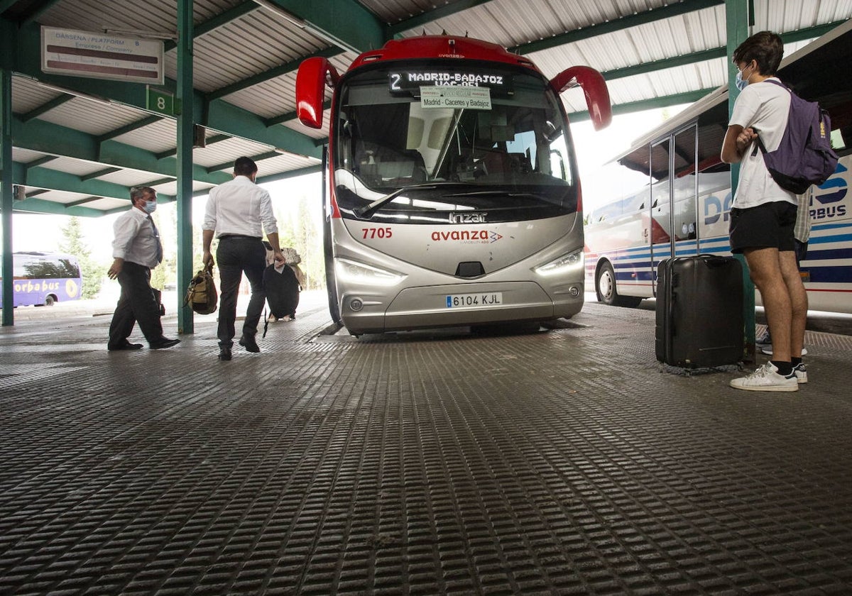
[[[288,134],[294,131],[299,138],[306,139],[308,147],[316,146],[327,137],[328,117],[321,130],[306,129],[292,118],[296,110],[295,66],[309,55],[322,53],[331,56],[332,64],[339,71],[345,71],[356,54],[348,51],[346,43],[336,47],[328,40],[347,37],[349,24],[336,23],[337,31],[315,31],[311,23],[304,22],[304,15],[285,18],[280,10],[270,9],[269,5],[274,3],[275,0],[195,0],[193,3],[193,22],[202,32],[193,40],[194,88],[205,101],[225,102],[222,105],[230,106],[228,109],[250,112],[261,120],[262,128],[269,131],[264,135],[265,140],[256,140],[233,134],[223,137],[222,130],[215,127],[206,130],[204,134],[210,144],[196,148],[193,160],[208,171],[210,177],[194,181],[196,192],[205,192],[214,185],[213,176],[221,174],[220,170],[210,172],[210,168],[233,163],[240,155],[259,158],[262,179],[277,179],[294,170],[319,167],[319,152],[314,151],[313,157],[305,157],[300,152],[281,152],[288,147],[273,146],[275,141],[270,139],[279,138],[275,131],[284,129],[288,129]],[[605,75],[608,73],[615,106],[665,101],[671,96],[713,89],[725,83],[727,76],[727,59],[722,50],[726,43],[725,10],[721,0],[492,0],[472,7],[467,0],[438,6],[429,0],[332,0],[328,6],[333,13],[346,4],[366,9],[391,35],[409,37],[422,32],[440,34],[446,31],[501,43],[529,54],[549,77],[574,64],[593,66]],[[33,5],[44,10],[33,13]],[[102,0],[57,0],[53,3],[20,0],[3,3],[3,6],[8,7],[2,14],[3,20],[19,26],[33,20],[44,26],[112,32],[124,37],[147,32],[167,38],[169,51],[165,54],[165,72],[167,77],[176,77],[177,3],[174,0],[113,0],[110,3]],[[298,10],[310,15],[312,3],[304,3],[304,7]],[[852,0],[754,0],[754,7],[755,30],[793,32],[852,17]],[[619,24],[622,20],[630,22],[637,16],[666,17],[673,10],[678,14],[595,34],[602,27],[613,28],[610,27],[613,23]],[[316,19],[320,16],[314,14]],[[358,23],[352,25],[357,27]],[[542,40],[555,43],[553,47],[541,49],[535,43]],[[665,60],[714,50],[718,55],[711,58],[665,67]],[[630,71],[658,61],[659,65],[655,65],[658,67],[651,72]],[[54,147],[49,139],[28,139],[26,143],[16,144],[13,152],[16,163],[38,164],[32,169],[53,169],[81,178],[103,171],[105,173],[95,176],[95,180],[108,181],[117,187],[157,183],[158,191],[164,195],[176,192],[174,175],[170,175],[174,169],[164,165],[174,159],[174,120],[152,118],[138,106],[69,97],[61,90],[40,86],[32,80],[37,73],[23,74],[26,76],[13,78],[15,117],[30,123],[62,127],[54,129],[58,131],[72,129],[89,135],[89,144],[95,145],[95,150],[73,154]],[[87,92],[103,95],[95,79],[90,79]],[[563,100],[568,112],[585,109],[578,89],[569,90]],[[203,119],[204,114],[200,118]],[[106,140],[112,144],[105,143]],[[113,152],[110,153],[111,161],[98,163],[97,158],[106,150]],[[141,152],[141,157],[135,152]],[[123,163],[124,154],[136,157],[127,158],[127,163]],[[57,159],[47,162],[51,157]],[[46,163],[40,164],[41,161]],[[150,169],[140,168],[143,164],[151,164]],[[114,167],[119,169],[109,169]],[[26,181],[24,186],[28,193],[39,192],[37,196],[42,201],[73,203],[81,200],[80,193],[67,192],[67,189],[42,192],[46,189],[28,185]],[[85,196],[83,194],[83,198]],[[123,208],[126,203],[118,197],[105,198],[84,203],[89,210],[80,213],[95,215],[117,206]],[[73,208],[67,210],[69,214],[78,212]]]

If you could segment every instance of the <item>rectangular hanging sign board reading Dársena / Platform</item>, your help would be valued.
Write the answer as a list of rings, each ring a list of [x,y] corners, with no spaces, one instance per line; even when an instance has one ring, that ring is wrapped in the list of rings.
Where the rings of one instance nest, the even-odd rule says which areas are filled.
[[[163,42],[42,27],[42,70],[161,85],[165,77]]]

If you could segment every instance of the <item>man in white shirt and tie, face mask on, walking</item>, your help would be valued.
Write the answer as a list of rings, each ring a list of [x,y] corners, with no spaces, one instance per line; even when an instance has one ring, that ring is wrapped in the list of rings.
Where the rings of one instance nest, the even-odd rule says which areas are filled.
[[[151,288],[151,270],[163,261],[163,245],[151,219],[157,209],[157,191],[150,186],[135,186],[130,189],[130,202],[133,206],[119,215],[112,225],[115,232],[113,261],[107,276],[118,279],[121,295],[109,326],[107,349],[110,352],[142,347],[127,339],[136,322],[153,350],[181,343],[181,340],[163,336],[159,301]]]

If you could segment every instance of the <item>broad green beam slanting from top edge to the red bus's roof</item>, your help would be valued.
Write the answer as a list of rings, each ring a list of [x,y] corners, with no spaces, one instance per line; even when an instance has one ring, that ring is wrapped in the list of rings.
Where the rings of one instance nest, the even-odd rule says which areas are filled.
[[[265,0],[330,43],[360,54],[384,45],[385,26],[355,0]],[[279,12],[276,10],[275,12]]]

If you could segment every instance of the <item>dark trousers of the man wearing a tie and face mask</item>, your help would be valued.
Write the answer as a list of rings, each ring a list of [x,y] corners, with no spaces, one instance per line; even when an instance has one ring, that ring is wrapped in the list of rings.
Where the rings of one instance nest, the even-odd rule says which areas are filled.
[[[148,343],[163,339],[163,325],[159,318],[159,302],[151,289],[151,270],[146,266],[124,261],[118,273],[118,285],[121,295],[112,313],[109,325],[109,347],[124,345],[133,325],[139,323],[139,329]]]

